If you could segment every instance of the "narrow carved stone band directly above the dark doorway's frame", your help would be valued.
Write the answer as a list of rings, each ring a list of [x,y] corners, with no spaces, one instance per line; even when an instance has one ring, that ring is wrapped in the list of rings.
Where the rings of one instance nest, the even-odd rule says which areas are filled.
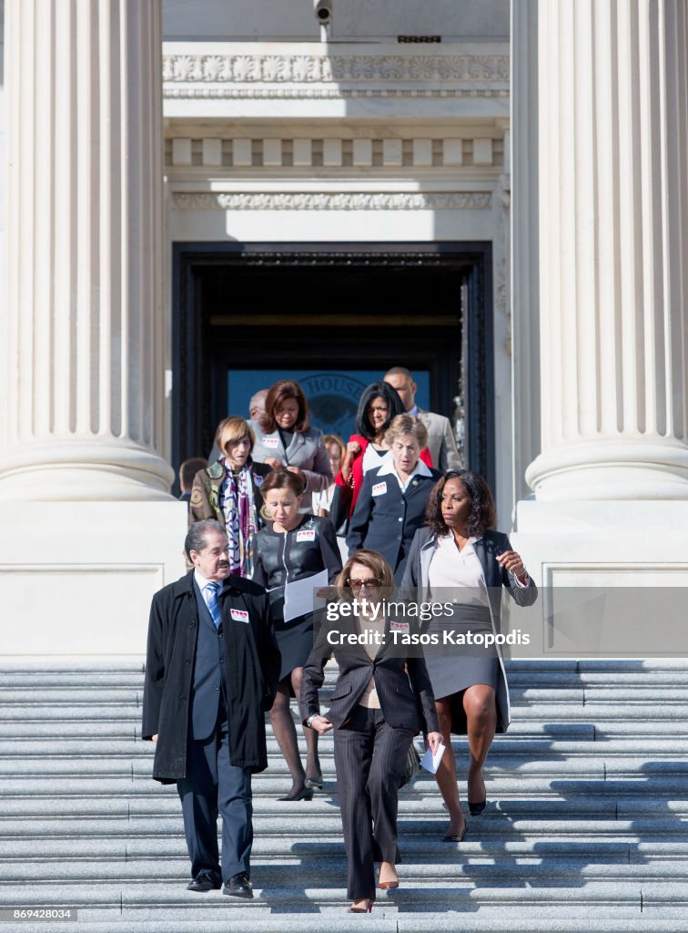
[[[447,211],[486,210],[489,191],[176,191],[172,204],[184,211]]]

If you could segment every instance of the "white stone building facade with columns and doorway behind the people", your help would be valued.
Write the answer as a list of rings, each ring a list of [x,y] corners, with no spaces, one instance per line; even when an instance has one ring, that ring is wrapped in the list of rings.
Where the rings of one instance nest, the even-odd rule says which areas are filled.
[[[544,585],[686,582],[684,5],[320,8],[6,0],[9,654],[143,651],[275,372],[419,371]]]

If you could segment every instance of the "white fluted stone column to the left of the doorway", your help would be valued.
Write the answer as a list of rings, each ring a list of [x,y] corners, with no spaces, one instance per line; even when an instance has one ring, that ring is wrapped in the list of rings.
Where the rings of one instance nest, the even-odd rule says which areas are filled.
[[[0,499],[167,498],[159,0],[7,0]]]

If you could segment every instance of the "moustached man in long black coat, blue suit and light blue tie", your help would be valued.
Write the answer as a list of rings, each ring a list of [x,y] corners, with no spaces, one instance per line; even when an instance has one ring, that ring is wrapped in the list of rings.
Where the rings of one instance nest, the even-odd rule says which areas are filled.
[[[266,592],[229,576],[223,525],[191,525],[185,548],[193,570],[157,592],[150,610],[143,738],[156,742],[153,777],[176,783],[182,801],[188,890],[224,881],[225,894],[253,898],[251,775],[268,767],[264,714],[280,650]]]

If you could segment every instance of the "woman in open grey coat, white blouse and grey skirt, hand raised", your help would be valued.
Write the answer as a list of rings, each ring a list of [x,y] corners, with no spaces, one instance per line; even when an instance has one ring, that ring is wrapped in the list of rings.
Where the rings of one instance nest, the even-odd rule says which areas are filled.
[[[413,539],[402,587],[418,588],[419,603],[432,596],[433,602],[457,604],[455,627],[458,620],[473,635],[496,638],[502,587],[518,606],[532,606],[538,591],[509,538],[491,530],[495,507],[487,482],[478,473],[447,470],[430,494],[426,522],[428,527]],[[438,620],[433,626],[441,627]],[[483,763],[495,731],[504,732],[509,725],[502,653],[497,645],[448,649],[448,653],[445,648],[435,657],[426,652],[426,663],[447,751],[452,732],[468,733],[468,807],[471,815],[479,815],[487,803]],[[435,776],[449,811],[444,842],[461,842],[466,821],[452,754],[443,757]]]

